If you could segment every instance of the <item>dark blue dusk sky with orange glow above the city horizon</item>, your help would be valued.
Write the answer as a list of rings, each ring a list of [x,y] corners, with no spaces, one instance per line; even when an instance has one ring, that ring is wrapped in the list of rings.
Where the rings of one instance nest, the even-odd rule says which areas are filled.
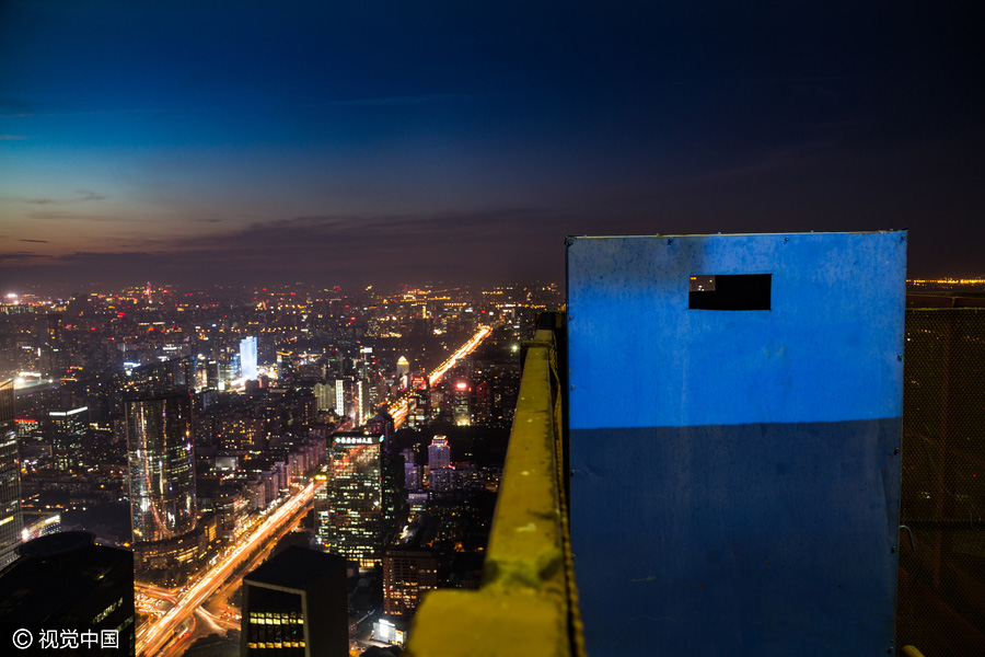
[[[567,234],[889,228],[912,277],[985,275],[977,8],[0,0],[0,287],[563,283]]]

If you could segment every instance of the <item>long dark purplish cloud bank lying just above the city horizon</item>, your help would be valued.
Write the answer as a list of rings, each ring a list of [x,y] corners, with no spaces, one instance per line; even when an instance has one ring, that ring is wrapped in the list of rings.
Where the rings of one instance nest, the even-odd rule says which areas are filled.
[[[118,235],[101,241],[100,247],[107,251],[80,250],[44,260],[11,257],[0,266],[7,269],[4,276],[38,280],[166,279],[193,286],[546,279],[552,269],[563,270],[566,232],[583,229],[571,218],[530,207],[305,216],[197,238]]]

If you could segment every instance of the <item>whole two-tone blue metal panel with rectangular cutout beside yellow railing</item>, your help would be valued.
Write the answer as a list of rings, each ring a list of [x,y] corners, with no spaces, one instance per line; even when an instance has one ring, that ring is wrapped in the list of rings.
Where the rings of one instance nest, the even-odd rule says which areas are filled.
[[[734,274],[772,274],[769,310],[688,309]],[[571,240],[593,657],[892,646],[904,286],[900,231]]]

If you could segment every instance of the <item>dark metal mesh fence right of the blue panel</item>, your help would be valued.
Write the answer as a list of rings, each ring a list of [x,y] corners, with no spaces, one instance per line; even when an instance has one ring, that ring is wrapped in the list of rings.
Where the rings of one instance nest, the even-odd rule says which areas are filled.
[[[896,645],[985,656],[985,308],[909,308]]]

